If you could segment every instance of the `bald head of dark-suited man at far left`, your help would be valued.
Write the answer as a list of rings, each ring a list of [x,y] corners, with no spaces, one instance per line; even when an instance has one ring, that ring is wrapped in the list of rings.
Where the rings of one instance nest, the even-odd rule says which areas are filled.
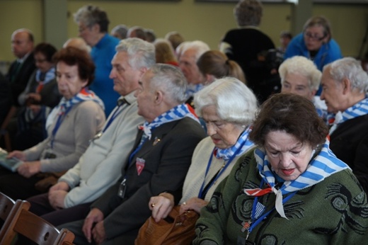
[[[11,51],[19,59],[33,50],[33,34],[28,29],[18,29],[11,35]]]

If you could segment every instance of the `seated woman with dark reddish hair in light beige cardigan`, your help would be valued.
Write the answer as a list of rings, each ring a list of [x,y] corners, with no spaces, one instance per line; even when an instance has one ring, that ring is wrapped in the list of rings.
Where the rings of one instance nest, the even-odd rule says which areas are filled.
[[[40,194],[35,183],[42,176],[37,173],[66,171],[74,166],[105,123],[103,102],[86,89],[95,70],[88,53],[67,47],[54,55],[54,62],[63,97],[47,118],[49,136],[30,149],[8,154],[23,161],[18,173],[0,171],[0,191],[14,199]]]

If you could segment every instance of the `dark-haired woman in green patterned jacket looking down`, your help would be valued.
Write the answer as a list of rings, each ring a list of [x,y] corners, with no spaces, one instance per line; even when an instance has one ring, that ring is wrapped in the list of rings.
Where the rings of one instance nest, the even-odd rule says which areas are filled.
[[[193,244],[362,244],[367,195],[329,149],[310,100],[279,93],[263,103],[238,160],[201,211]]]

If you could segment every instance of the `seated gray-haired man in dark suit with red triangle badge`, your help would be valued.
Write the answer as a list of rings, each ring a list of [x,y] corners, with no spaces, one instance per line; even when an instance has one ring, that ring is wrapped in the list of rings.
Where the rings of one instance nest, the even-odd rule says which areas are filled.
[[[205,137],[192,108],[183,103],[187,83],[178,68],[155,64],[139,85],[138,114],[146,121],[120,181],[91,205],[84,221],[60,226],[76,234],[76,244],[134,244],[151,215],[151,196],[167,191],[180,200],[192,152]]]

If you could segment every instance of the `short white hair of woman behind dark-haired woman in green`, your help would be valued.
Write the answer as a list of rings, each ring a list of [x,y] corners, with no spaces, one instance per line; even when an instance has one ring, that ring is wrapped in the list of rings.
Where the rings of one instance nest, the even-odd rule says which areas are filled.
[[[285,76],[287,74],[296,74],[308,79],[309,89],[318,90],[321,84],[322,72],[318,70],[316,64],[303,56],[294,56],[286,59],[279,67],[281,85],[284,86]]]

